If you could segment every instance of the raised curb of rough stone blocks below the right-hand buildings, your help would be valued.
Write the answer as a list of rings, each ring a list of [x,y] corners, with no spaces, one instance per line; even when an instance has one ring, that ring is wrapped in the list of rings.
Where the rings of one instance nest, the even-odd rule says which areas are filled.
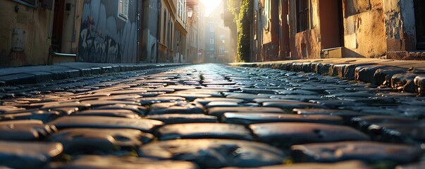
[[[338,61],[343,61],[338,63]],[[377,86],[387,86],[398,92],[425,95],[425,70],[408,68],[403,61],[386,59],[336,59],[276,61],[264,63],[229,63],[231,66],[247,68],[273,68],[295,72],[318,73],[338,76],[346,80],[357,80]],[[401,66],[398,66],[401,65]],[[415,65],[424,65],[418,61]]]

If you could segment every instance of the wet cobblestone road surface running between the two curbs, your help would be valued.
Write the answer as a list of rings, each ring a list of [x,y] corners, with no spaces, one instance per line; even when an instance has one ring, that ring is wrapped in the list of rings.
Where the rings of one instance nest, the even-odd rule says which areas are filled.
[[[340,77],[185,65],[0,98],[0,168],[425,168],[425,98]]]

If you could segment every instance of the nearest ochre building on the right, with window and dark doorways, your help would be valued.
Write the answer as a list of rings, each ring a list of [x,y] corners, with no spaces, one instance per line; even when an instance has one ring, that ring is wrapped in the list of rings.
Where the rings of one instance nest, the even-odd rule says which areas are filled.
[[[292,59],[423,55],[417,52],[424,49],[421,1],[290,0],[288,5]]]

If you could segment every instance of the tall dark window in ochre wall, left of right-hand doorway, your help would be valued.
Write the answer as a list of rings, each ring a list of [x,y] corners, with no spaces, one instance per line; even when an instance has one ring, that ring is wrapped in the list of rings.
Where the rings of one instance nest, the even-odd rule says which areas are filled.
[[[310,29],[309,0],[297,0],[297,32]]]

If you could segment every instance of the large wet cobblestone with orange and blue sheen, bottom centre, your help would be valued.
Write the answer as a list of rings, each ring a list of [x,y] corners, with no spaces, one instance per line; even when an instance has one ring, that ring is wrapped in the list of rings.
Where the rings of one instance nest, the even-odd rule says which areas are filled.
[[[141,157],[192,161],[201,168],[277,165],[285,155],[267,144],[228,139],[180,139],[140,147]]]

